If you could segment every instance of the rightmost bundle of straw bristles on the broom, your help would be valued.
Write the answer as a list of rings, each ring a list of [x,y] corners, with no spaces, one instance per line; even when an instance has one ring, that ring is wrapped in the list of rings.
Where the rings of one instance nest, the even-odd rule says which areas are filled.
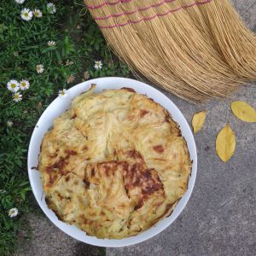
[[[256,79],[256,38],[228,1],[214,0],[202,7],[211,36],[234,72],[244,79]]]

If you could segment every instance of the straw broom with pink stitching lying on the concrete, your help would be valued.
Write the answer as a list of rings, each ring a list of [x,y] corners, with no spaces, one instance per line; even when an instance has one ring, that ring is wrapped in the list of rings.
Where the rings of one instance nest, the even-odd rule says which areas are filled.
[[[256,38],[228,0],[84,0],[113,51],[191,102],[256,79]]]

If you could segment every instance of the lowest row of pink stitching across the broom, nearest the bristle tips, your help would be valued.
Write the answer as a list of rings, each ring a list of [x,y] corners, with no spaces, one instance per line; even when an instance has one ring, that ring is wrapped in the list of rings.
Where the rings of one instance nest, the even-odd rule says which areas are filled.
[[[132,0],[127,0],[127,1],[132,1]],[[195,3],[191,3],[189,5],[183,5],[179,8],[177,8],[177,9],[171,9],[171,10],[167,11],[165,14],[157,14],[157,15],[154,15],[154,16],[151,16],[151,17],[145,17],[141,20],[128,20],[125,23],[118,23],[118,24],[115,24],[115,25],[112,25],[112,26],[99,26],[99,27],[100,28],[113,28],[113,27],[117,27],[117,26],[126,26],[126,25],[129,25],[129,24],[137,24],[137,23],[139,23],[141,21],[144,21],[144,20],[153,20],[156,17],[165,16],[165,15],[168,15],[168,14],[171,14],[171,13],[176,13],[180,9],[187,9],[187,8],[193,7],[195,5],[201,5],[201,4],[206,4],[206,3],[210,3],[210,2],[212,2],[212,0],[206,0],[204,2],[195,2]]]

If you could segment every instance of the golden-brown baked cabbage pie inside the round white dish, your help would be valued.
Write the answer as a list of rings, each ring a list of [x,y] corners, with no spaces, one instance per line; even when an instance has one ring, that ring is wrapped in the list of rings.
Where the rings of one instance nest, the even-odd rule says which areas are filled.
[[[135,236],[171,214],[191,161],[165,108],[134,90],[96,85],[44,136],[39,171],[48,207],[87,235]]]

